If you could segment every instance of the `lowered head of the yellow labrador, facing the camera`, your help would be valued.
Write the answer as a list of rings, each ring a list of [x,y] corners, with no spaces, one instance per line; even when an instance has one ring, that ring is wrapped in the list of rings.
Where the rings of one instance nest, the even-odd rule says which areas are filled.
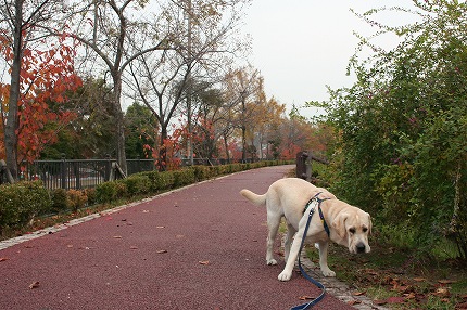
[[[371,217],[358,208],[348,208],[339,212],[332,228],[345,241],[350,253],[368,253],[368,235],[371,233]]]

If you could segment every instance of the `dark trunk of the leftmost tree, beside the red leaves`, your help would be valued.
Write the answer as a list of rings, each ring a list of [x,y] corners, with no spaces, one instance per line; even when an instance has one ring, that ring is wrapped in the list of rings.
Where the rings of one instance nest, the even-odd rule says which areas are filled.
[[[15,1],[14,15],[14,38],[13,38],[13,66],[11,73],[10,101],[4,127],[4,144],[7,153],[7,167],[9,168],[14,180],[17,180],[17,135],[18,117],[17,104],[20,102],[20,74],[21,61],[23,55],[22,43],[22,17],[23,17],[23,0]]]

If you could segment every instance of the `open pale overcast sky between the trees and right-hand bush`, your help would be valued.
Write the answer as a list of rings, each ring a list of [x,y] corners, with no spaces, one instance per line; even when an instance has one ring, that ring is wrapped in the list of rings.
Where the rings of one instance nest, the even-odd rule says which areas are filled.
[[[350,8],[363,13],[394,5],[413,8],[411,0],[253,0],[244,33],[252,36],[250,62],[261,70],[267,96],[290,109],[292,104],[328,99],[326,85],[332,89],[351,86],[355,78],[345,70],[358,42],[353,31],[369,35],[377,29]],[[391,25],[414,21],[395,12],[378,18]],[[381,44],[391,47],[396,37],[383,40]],[[314,111],[301,113],[312,116]]]

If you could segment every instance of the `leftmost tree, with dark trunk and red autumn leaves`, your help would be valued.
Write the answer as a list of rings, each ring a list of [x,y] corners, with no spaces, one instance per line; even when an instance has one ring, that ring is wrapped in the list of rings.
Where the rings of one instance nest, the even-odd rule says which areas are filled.
[[[24,0],[5,0],[0,5],[0,50],[3,56],[3,73],[8,73],[1,80],[0,130],[3,140],[0,155],[7,157],[7,166],[13,179],[17,179],[18,152],[25,152],[25,148],[33,145],[37,148],[43,143],[42,139],[35,135],[38,128],[43,128],[43,124],[33,126],[36,120],[33,121],[34,117],[30,118],[28,113],[36,111],[37,115],[40,115],[47,111],[46,98],[64,100],[63,94],[56,93],[63,90],[61,83],[68,82],[66,79],[70,75],[62,75],[62,72],[52,73],[58,67],[62,67],[65,73],[70,72],[73,62],[66,49],[61,48],[63,44],[53,46],[55,40],[48,40],[49,31],[45,28],[51,26],[52,21],[60,25],[60,14],[64,10],[63,0],[31,0],[27,3]],[[47,46],[49,48],[45,48]],[[45,54],[48,50],[56,50],[59,54],[50,57]],[[49,64],[47,60],[50,61]],[[40,65],[41,63],[45,65]],[[8,79],[10,83],[7,83]],[[52,90],[53,92],[47,95]],[[29,133],[21,128],[29,128]],[[29,139],[30,133],[34,133],[31,140],[35,142],[24,142],[22,139]],[[20,145],[22,147],[18,147]],[[29,155],[34,153],[37,152]],[[27,154],[23,157],[27,158]]]

